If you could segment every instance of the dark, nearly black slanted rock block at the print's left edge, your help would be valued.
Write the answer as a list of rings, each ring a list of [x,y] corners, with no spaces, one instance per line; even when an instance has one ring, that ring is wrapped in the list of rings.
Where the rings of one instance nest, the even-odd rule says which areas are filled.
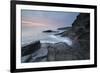
[[[41,43],[40,41],[32,42],[29,45],[22,47],[21,56],[29,55],[40,49]]]

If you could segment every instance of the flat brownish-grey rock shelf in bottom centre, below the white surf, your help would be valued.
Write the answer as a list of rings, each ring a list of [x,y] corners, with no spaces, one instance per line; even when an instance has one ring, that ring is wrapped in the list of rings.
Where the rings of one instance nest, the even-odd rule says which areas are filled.
[[[65,60],[84,60],[85,51],[80,49],[79,44],[76,42],[73,47],[66,43],[59,42],[48,48],[48,61],[65,61]]]

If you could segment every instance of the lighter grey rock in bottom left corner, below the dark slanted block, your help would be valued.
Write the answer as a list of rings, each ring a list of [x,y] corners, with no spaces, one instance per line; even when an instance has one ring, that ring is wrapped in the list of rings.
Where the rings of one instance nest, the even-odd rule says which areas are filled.
[[[22,56],[21,62],[27,63],[27,62],[45,62],[47,61],[47,54],[48,50],[46,48],[46,45],[41,44],[41,48],[37,51],[27,54],[25,56]]]

